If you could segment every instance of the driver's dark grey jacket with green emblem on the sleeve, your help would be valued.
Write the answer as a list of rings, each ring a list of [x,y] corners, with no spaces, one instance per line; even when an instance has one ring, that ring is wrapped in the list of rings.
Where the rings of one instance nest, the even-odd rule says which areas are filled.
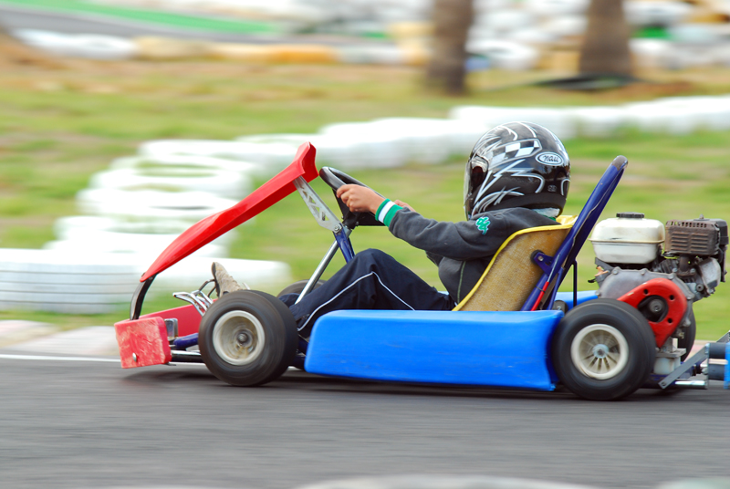
[[[458,304],[474,288],[505,240],[529,227],[557,224],[530,209],[516,207],[481,213],[459,223],[427,219],[401,209],[393,216],[391,233],[422,249],[439,267],[439,278]]]

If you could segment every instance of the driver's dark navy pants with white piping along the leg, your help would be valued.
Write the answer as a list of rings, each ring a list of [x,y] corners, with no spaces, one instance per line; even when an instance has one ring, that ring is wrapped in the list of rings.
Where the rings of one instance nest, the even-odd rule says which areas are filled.
[[[380,250],[360,252],[327,283],[308,293],[298,304],[297,294],[281,300],[297,320],[299,333],[308,338],[318,317],[341,309],[451,310],[447,294]]]

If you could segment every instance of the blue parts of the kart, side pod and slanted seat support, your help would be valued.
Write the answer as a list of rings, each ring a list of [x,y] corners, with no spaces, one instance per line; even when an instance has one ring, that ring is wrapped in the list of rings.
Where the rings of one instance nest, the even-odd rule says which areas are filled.
[[[628,161],[611,162],[555,256],[536,263],[543,275],[520,311],[336,311],[318,318],[306,347],[308,372],[370,380],[554,390],[550,341],[569,307],[594,291],[561,293],[558,286],[620,181]],[[335,235],[345,259],[354,255],[345,233]],[[546,259],[547,258],[547,259]]]

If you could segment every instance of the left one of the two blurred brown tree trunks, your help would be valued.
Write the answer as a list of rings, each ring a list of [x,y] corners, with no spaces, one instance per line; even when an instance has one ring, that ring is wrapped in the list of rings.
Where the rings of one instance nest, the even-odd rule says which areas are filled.
[[[451,95],[465,91],[466,36],[472,25],[472,0],[435,0],[433,52],[426,70],[429,85]]]

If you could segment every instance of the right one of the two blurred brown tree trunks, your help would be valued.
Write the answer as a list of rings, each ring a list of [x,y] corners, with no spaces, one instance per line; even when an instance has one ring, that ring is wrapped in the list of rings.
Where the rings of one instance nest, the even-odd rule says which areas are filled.
[[[621,0],[591,0],[580,49],[580,73],[630,77],[629,36]]]

